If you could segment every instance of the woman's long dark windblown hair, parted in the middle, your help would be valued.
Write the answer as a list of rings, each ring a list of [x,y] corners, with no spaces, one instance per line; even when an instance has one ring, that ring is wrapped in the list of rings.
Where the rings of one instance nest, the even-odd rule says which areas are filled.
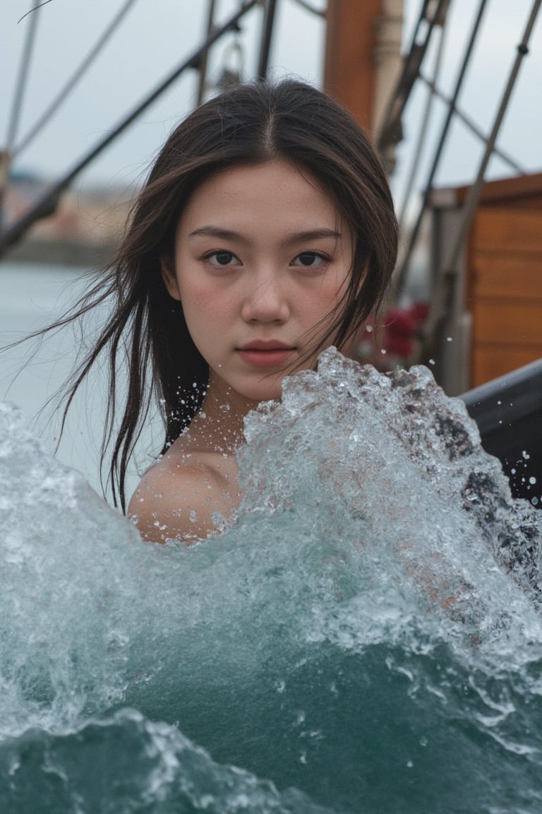
[[[292,80],[240,85],[194,110],[154,162],[115,259],[75,308],[51,326],[72,322],[106,300],[113,303],[106,327],[69,383],[63,420],[80,383],[107,352],[102,464],[112,445],[109,479],[115,505],[123,510],[128,462],[153,400],[163,412],[165,451],[197,413],[209,375],[182,304],[167,294],[161,275],[161,258],[174,253],[180,213],[214,173],[277,159],[316,178],[354,235],[349,286],[320,346],[331,336],[337,346],[345,344],[382,301],[396,260],[397,222],[383,169],[349,113],[320,90]],[[126,359],[128,392],[117,427],[117,378]]]

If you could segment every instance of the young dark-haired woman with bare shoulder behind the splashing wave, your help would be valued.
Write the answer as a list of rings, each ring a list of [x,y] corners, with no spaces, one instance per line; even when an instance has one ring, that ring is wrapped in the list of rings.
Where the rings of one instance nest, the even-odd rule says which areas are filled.
[[[239,503],[243,419],[284,376],[349,352],[392,274],[397,225],[375,151],[351,116],[298,81],[241,85],[167,140],[118,256],[70,320],[115,300],[72,394],[105,349],[106,441],[125,509],[133,446],[153,398],[165,443],[130,501],[147,540],[193,540]],[[128,396],[115,431],[115,374]],[[121,360],[122,355],[122,360]],[[105,444],[106,445],[106,444]],[[103,450],[102,450],[103,452]]]

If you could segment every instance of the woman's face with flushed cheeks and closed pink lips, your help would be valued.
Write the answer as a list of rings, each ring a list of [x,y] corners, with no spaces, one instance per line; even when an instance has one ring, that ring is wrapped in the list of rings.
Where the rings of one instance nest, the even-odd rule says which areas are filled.
[[[210,392],[279,399],[284,375],[313,368],[352,259],[336,205],[291,164],[227,169],[199,186],[163,278],[209,364]]]

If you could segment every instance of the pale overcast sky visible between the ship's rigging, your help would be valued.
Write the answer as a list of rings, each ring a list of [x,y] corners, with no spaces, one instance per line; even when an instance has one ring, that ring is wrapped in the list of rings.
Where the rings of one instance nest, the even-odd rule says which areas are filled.
[[[124,7],[125,0],[50,0],[39,12],[37,40],[28,90],[16,142],[28,132],[80,60],[97,41],[106,25]],[[325,0],[310,0],[315,7]],[[360,0],[362,2],[362,0]],[[405,42],[422,0],[405,0]],[[236,0],[219,0],[219,20],[238,6]],[[440,85],[450,92],[457,75],[458,59],[479,6],[477,0],[452,0]],[[531,10],[532,0],[488,0],[483,29],[475,50],[460,105],[486,131],[501,98],[514,61],[516,46]],[[20,65],[31,0],[2,0],[0,7],[0,142],[5,144],[15,77]],[[31,146],[15,161],[15,167],[48,177],[65,173],[111,129],[126,112],[191,53],[202,41],[207,0],[136,0],[98,62],[80,82],[61,111],[42,130]],[[241,42],[245,75],[254,74],[262,10],[256,7],[245,18]],[[280,0],[271,66],[275,74],[293,74],[319,83],[322,78],[325,28],[323,20],[304,11],[295,0]],[[210,78],[231,58],[231,42],[220,42],[212,55]],[[431,54],[424,71],[431,71]],[[137,125],[107,149],[89,168],[83,182],[128,184],[145,172],[167,133],[193,107],[197,75],[184,77],[145,112]],[[397,189],[408,168],[409,155],[418,133],[425,91],[419,87],[405,118],[405,142],[398,153]],[[514,98],[509,107],[499,144],[528,172],[542,168],[542,13],[531,39]],[[437,103],[432,138],[435,138],[444,107]],[[440,118],[439,118],[440,117]],[[479,142],[462,125],[453,127],[437,182],[467,182],[475,173]],[[2,146],[3,146],[2,144]],[[430,146],[423,153],[427,165]],[[513,171],[493,160],[493,177]],[[423,167],[422,167],[423,173]],[[423,177],[423,176],[422,176]]]

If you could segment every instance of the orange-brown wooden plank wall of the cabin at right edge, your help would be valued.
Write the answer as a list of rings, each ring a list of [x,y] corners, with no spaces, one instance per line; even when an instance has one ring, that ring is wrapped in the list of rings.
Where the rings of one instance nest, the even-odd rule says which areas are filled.
[[[470,232],[471,387],[542,357],[542,209],[482,206]]]

